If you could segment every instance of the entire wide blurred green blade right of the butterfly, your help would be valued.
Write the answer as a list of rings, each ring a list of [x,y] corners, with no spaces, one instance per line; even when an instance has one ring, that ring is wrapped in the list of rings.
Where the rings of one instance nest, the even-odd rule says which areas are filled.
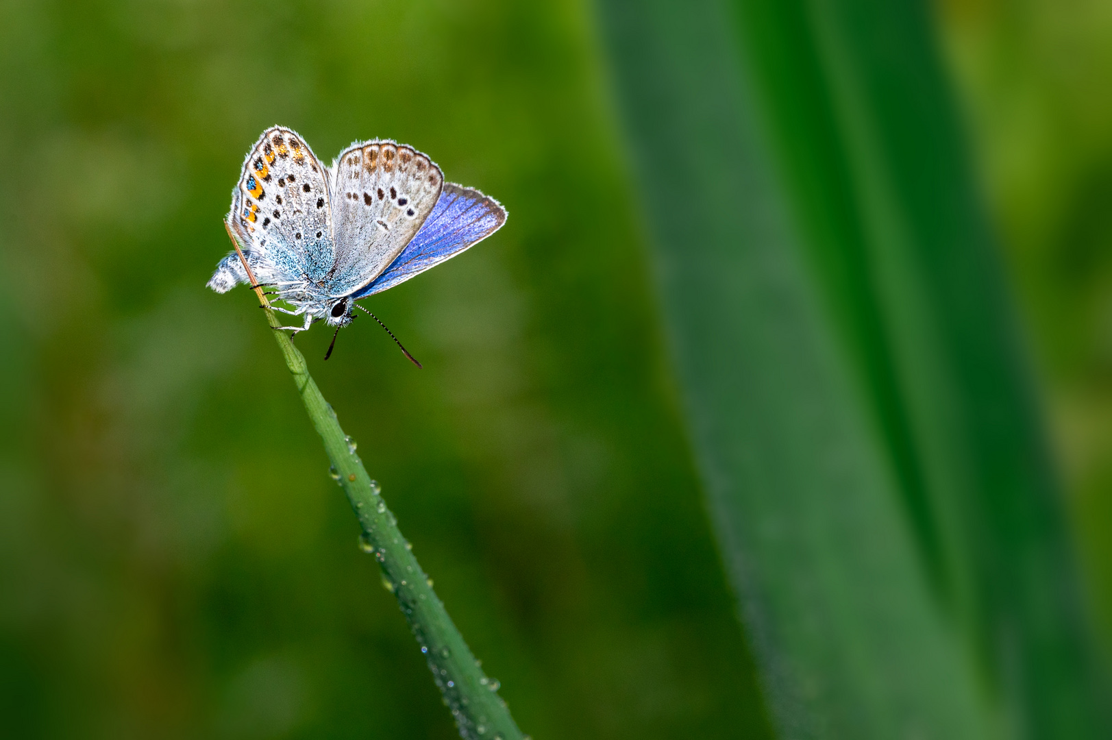
[[[599,4],[782,736],[1098,737],[1058,492],[924,9]]]

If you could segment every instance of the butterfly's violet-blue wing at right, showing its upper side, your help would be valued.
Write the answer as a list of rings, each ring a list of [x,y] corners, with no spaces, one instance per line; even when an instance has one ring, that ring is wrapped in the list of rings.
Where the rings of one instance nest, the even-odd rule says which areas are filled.
[[[506,223],[506,209],[473,188],[448,182],[417,236],[389,267],[355,293],[356,298],[381,293],[414,275],[450,259],[487,238]]]

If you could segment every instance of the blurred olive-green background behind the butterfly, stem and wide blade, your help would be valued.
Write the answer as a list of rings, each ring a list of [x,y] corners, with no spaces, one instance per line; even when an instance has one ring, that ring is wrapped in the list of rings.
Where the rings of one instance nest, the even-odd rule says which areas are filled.
[[[1112,9],[1064,4],[924,18],[1105,662]],[[410,144],[509,210],[368,303],[424,371],[369,322],[327,364],[326,332],[297,343],[523,730],[777,734],[606,38],[574,0],[0,3],[0,734],[456,737],[254,296],[203,288],[272,124],[326,161]]]

